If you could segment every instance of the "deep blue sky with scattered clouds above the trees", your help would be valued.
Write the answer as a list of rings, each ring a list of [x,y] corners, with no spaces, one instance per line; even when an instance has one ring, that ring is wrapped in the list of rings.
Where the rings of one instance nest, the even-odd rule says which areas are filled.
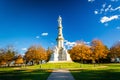
[[[31,45],[56,45],[57,18],[67,43],[120,40],[120,0],[0,0],[0,48],[23,53]]]

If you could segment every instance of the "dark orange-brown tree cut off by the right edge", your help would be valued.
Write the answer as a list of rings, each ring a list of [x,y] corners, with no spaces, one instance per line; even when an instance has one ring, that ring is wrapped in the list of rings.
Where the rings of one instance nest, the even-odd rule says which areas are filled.
[[[120,41],[110,48],[109,57],[111,59],[120,58]]]

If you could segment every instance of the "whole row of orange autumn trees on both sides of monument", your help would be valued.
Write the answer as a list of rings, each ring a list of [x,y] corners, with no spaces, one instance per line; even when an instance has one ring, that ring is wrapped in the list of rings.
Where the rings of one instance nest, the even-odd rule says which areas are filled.
[[[84,41],[68,50],[71,58],[75,62],[81,63],[110,63],[120,62],[120,41],[111,48],[105,46],[101,40],[95,39],[90,45]],[[50,59],[53,49],[45,50],[42,46],[31,46],[24,55],[20,55],[13,46],[0,48],[0,66],[21,66],[46,63]]]

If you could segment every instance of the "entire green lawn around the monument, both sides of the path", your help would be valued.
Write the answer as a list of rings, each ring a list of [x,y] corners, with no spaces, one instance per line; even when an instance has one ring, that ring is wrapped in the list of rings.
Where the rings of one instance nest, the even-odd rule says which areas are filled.
[[[67,68],[75,80],[120,80],[120,64],[47,63],[0,68],[0,80],[46,80],[52,69]]]

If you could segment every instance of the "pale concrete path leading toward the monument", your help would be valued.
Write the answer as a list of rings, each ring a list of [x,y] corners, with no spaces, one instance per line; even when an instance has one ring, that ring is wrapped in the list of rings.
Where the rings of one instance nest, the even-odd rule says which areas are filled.
[[[67,69],[55,69],[47,80],[75,80]]]

